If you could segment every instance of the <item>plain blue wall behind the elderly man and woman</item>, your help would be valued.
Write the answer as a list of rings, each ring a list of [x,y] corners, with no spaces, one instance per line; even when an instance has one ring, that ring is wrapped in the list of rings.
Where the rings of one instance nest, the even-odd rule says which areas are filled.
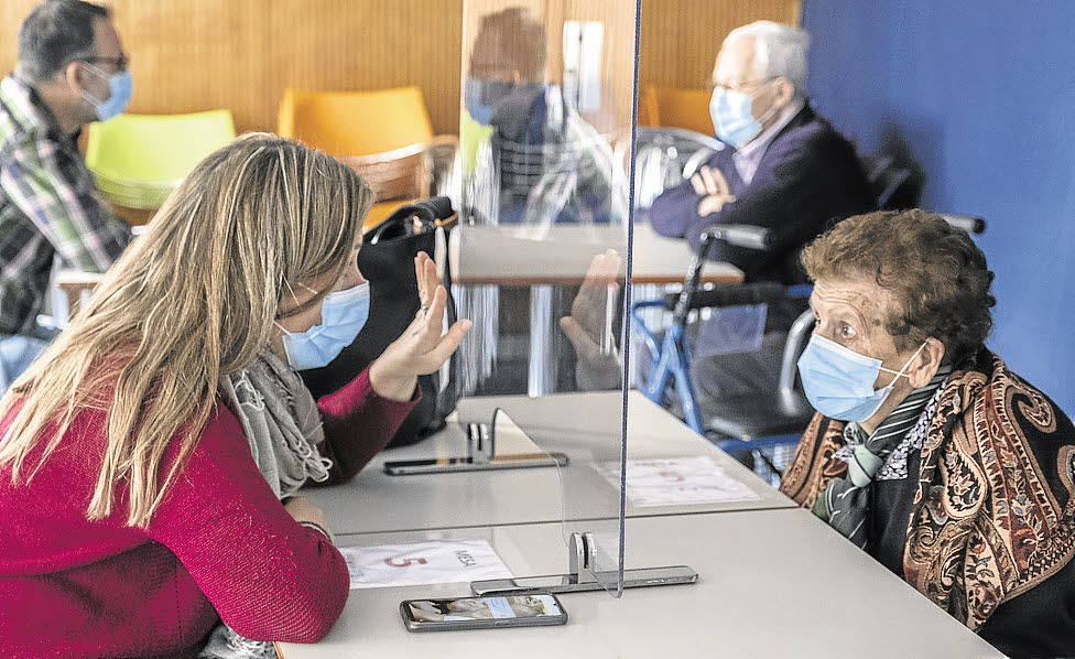
[[[804,0],[814,106],[989,223],[989,346],[1075,412],[1075,2]]]

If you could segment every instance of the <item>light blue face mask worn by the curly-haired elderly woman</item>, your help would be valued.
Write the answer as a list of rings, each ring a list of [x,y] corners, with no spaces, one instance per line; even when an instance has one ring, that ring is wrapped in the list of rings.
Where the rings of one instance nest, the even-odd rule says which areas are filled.
[[[835,341],[814,334],[799,358],[799,374],[806,399],[814,409],[829,419],[866,421],[881,409],[892,393],[895,382],[906,377],[903,371],[919,356],[919,346],[900,370],[881,366],[880,359],[860,355]],[[888,387],[873,390],[881,371],[894,374]]]

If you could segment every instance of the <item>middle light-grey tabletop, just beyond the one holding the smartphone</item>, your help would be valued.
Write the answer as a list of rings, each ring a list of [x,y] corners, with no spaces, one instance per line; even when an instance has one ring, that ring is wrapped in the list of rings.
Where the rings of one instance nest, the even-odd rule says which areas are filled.
[[[619,391],[465,399],[458,417],[464,422],[486,421],[497,407],[506,410],[540,449],[566,453],[568,465],[561,473],[556,467],[544,467],[414,476],[384,474],[382,465],[387,461],[463,455],[465,435],[453,422],[424,442],[382,452],[349,483],[307,488],[305,494],[325,510],[335,533],[550,522],[565,515],[569,520],[607,520],[617,516],[618,488],[591,465],[619,460]],[[638,391],[629,395],[628,419],[629,460],[709,456],[757,496],[753,500],[663,507],[637,507],[628,500],[628,516],[794,506]],[[498,449],[499,453],[531,453],[535,445],[522,433],[501,428]]]

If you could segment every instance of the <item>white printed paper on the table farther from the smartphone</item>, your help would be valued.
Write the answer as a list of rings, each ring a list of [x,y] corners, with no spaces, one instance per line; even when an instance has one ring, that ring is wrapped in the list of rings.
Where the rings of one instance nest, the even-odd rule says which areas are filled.
[[[619,463],[595,464],[609,483],[619,486]],[[627,461],[627,496],[638,507],[691,506],[749,501],[759,496],[728,476],[708,456]]]

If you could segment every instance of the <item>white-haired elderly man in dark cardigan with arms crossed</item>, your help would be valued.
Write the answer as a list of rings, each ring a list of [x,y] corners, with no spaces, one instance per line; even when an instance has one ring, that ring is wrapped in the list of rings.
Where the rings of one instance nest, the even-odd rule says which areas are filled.
[[[650,210],[653,228],[698,247],[713,224],[770,228],[773,250],[760,253],[718,245],[713,259],[739,267],[747,281],[802,283],[802,247],[833,218],[875,207],[851,145],[817,116],[806,99],[806,33],[759,21],[728,34],[713,71],[709,111],[726,148],[689,181],[665,191]],[[805,311],[801,301],[723,312],[724,321],[764,326],[761,349],[707,346],[701,331],[693,374],[704,415],[725,397],[764,395],[777,387],[786,331]],[[738,314],[739,317],[736,317]],[[713,336],[735,336],[715,332]],[[749,349],[749,352],[742,352]],[[705,357],[710,354],[713,356]]]

